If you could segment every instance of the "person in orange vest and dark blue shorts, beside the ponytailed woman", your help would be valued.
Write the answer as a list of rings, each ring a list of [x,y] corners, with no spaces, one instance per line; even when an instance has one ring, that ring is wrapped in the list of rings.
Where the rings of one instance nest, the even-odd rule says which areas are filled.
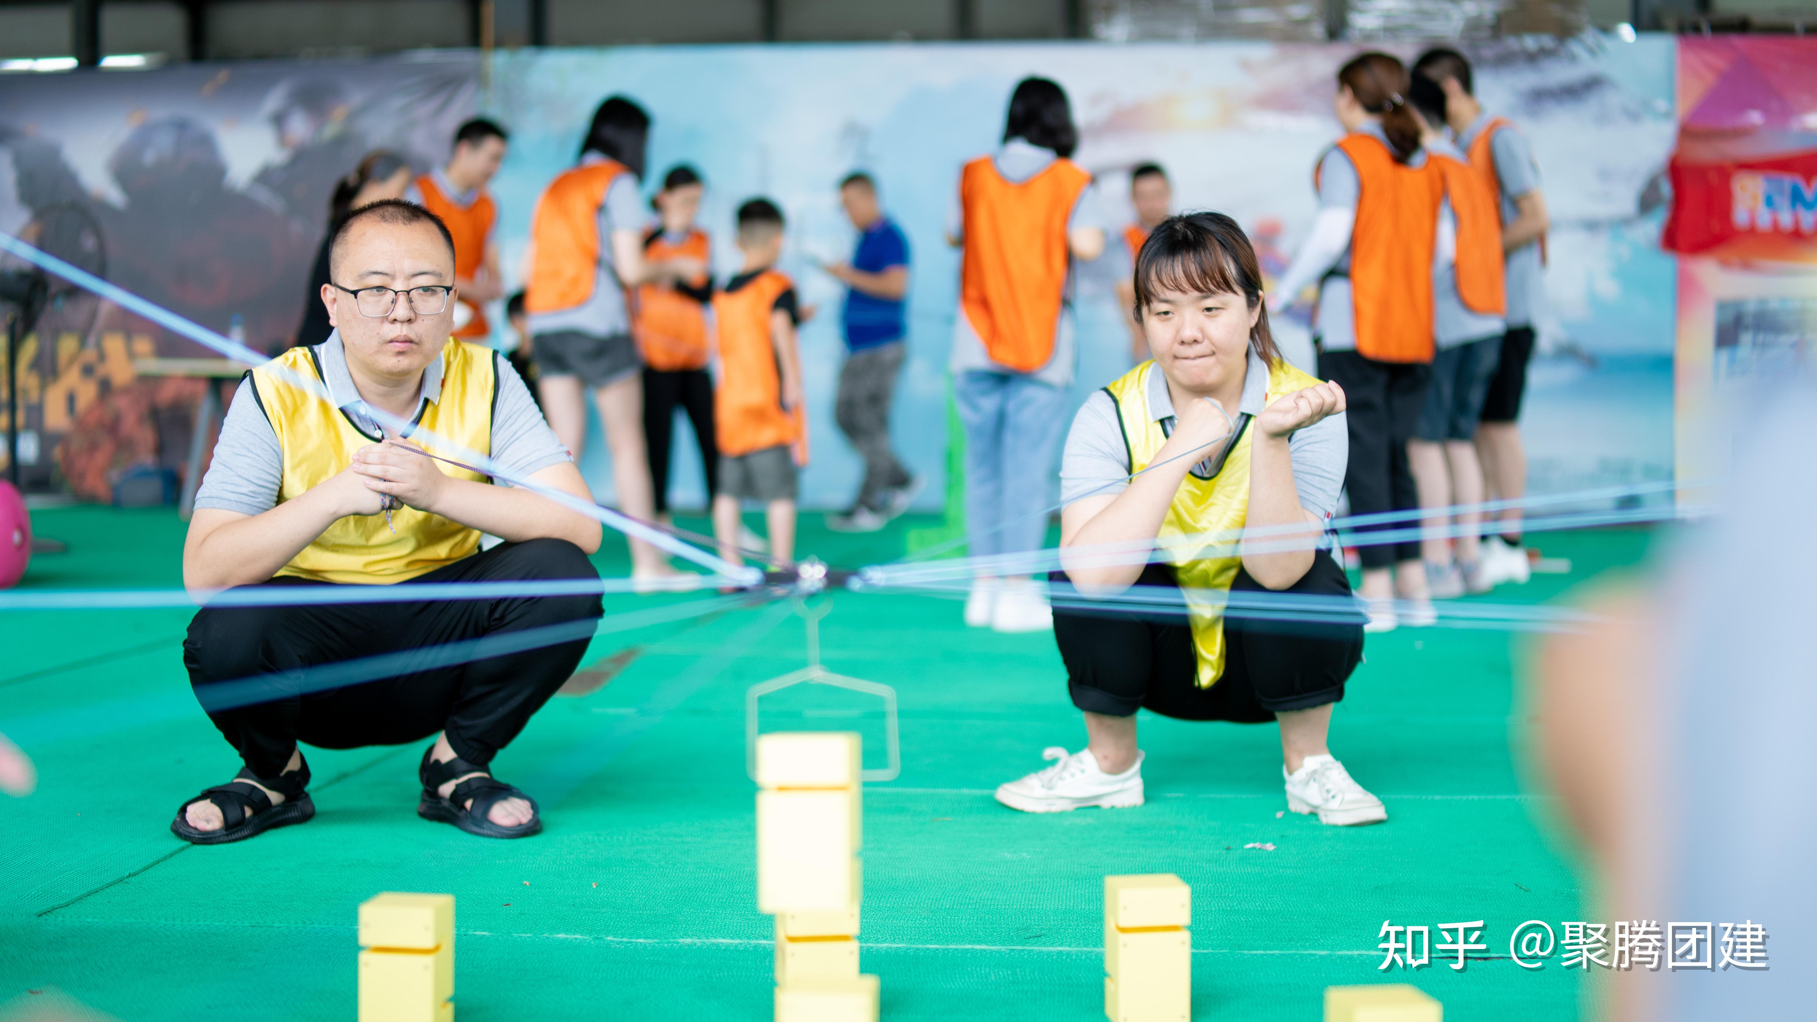
[[[1501,265],[1501,216],[1483,176],[1445,136],[1445,93],[1414,74],[1408,100],[1425,123],[1421,145],[1445,178],[1439,240],[1434,258],[1432,383],[1426,407],[1406,441],[1406,459],[1419,488],[1419,506],[1470,506],[1483,501],[1483,465],[1475,454],[1477,421],[1501,358],[1506,294]],[[1419,541],[1426,586],[1434,599],[1483,594],[1495,586],[1477,534],[1481,512],[1423,519]],[[1446,532],[1455,526],[1457,536]]]

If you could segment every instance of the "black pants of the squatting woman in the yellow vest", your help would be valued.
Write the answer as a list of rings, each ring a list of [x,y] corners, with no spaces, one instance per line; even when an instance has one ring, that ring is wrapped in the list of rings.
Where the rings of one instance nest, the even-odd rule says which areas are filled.
[[[1054,579],[1065,579],[1054,572]],[[1148,565],[1141,586],[1176,586],[1174,570]],[[1230,592],[1268,592],[1237,570]],[[1350,595],[1345,570],[1328,554],[1292,588],[1297,595]],[[1067,663],[1072,704],[1088,713],[1128,717],[1137,706],[1181,721],[1261,724],[1285,710],[1310,710],[1345,697],[1345,681],[1363,661],[1363,615],[1355,621],[1261,621],[1225,617],[1225,673],[1199,688],[1199,661],[1183,612],[1054,608],[1054,641]],[[1185,603],[1179,604],[1181,610]]]

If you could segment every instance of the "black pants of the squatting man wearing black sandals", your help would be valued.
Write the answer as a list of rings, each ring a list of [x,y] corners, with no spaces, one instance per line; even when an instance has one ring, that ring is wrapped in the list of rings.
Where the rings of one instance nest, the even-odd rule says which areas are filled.
[[[587,555],[565,539],[501,543],[412,579],[414,583],[503,583],[596,579]],[[263,586],[313,586],[276,577]],[[242,586],[251,588],[251,586]],[[351,586],[349,586],[351,588]],[[598,595],[342,603],[322,606],[204,606],[189,623],[184,664],[207,708],[209,686],[296,672],[358,657],[521,632],[600,617]],[[211,710],[209,719],[258,777],[278,777],[296,742],[320,748],[402,744],[447,732],[454,753],[485,766],[574,673],[587,639],[483,661],[387,677],[345,688],[294,693]]]

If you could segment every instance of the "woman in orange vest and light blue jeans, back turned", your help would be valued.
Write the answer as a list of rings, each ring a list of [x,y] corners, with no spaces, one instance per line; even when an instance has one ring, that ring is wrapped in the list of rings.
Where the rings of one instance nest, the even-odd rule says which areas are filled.
[[[1077,363],[1072,260],[1105,251],[1092,174],[1067,93],[1023,78],[1003,147],[965,165],[947,241],[961,249],[952,396],[965,428],[965,534],[974,557],[1039,550],[1054,448]],[[965,623],[1043,632],[1054,614],[1027,575],[981,570]]]

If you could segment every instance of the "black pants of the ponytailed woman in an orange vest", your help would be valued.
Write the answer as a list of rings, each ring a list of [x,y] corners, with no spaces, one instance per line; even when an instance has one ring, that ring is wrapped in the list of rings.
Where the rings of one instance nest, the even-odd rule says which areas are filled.
[[[1350,514],[1381,514],[1419,508],[1414,470],[1406,465],[1406,441],[1419,428],[1426,405],[1430,365],[1375,361],[1357,352],[1319,352],[1319,376],[1345,388],[1345,419],[1350,423],[1350,467],[1345,492]],[[1357,532],[1417,528],[1417,519],[1368,525]],[[1419,541],[1359,546],[1365,568],[1417,561]]]

